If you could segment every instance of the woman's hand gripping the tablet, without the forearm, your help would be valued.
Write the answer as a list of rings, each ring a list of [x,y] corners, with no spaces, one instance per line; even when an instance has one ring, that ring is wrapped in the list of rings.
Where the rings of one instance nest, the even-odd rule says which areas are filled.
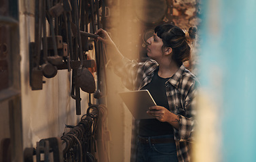
[[[169,121],[171,116],[171,112],[162,106],[149,107],[149,111],[147,111],[147,113],[162,122]]]

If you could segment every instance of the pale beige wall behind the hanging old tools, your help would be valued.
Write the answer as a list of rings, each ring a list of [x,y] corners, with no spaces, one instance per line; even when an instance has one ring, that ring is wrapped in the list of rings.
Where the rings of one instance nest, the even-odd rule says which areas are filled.
[[[71,73],[58,70],[54,78],[44,78],[42,90],[29,84],[29,43],[34,41],[35,3],[20,0],[20,69],[22,94],[23,147],[35,146],[42,138],[60,137],[69,131],[65,124],[76,125],[88,107],[88,94],[81,91],[81,115],[75,114],[70,97]]]

